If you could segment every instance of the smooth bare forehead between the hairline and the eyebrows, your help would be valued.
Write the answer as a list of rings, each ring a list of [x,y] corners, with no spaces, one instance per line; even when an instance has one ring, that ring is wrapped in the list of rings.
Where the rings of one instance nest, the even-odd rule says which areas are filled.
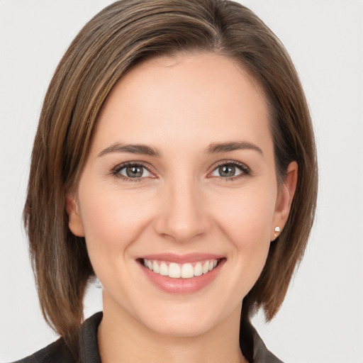
[[[271,138],[268,123],[263,91],[237,61],[213,53],[177,55],[147,60],[117,82],[94,141],[101,147],[117,137],[130,143],[174,138],[189,145],[243,136],[256,143],[257,134]]]

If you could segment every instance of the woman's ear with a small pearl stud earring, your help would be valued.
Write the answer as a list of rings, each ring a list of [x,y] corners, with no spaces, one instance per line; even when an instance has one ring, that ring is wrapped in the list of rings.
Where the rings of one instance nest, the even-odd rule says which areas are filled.
[[[274,218],[272,223],[272,237],[271,240],[275,240],[281,230],[283,230],[286,220],[289,217],[291,203],[296,191],[296,184],[298,181],[298,164],[291,162],[287,168],[286,177],[284,182],[279,186],[279,192],[277,194],[277,201],[274,211]],[[275,230],[275,228],[279,230]]]

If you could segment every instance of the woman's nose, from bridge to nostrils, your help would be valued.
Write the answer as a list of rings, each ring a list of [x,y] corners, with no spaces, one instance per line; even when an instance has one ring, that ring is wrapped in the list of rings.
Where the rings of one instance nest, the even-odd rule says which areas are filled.
[[[176,242],[201,238],[211,227],[206,211],[207,201],[200,188],[191,180],[170,182],[161,192],[155,230]]]

